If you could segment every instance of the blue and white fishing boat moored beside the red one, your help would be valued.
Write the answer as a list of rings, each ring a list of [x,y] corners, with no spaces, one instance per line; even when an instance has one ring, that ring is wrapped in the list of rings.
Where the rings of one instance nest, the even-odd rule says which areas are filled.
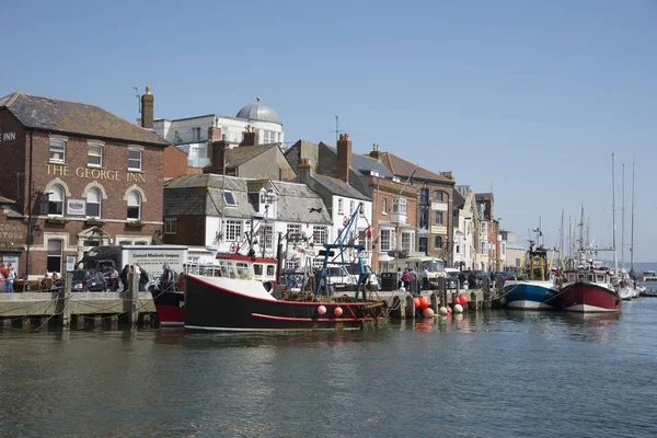
[[[549,252],[558,254],[561,262],[558,250],[544,246],[534,249],[533,242],[530,242],[518,279],[509,279],[504,283],[499,299],[503,307],[526,310],[561,309],[562,297],[557,281],[561,279],[561,273],[563,273],[563,263],[560,263],[556,272],[553,272],[552,258],[548,260]]]

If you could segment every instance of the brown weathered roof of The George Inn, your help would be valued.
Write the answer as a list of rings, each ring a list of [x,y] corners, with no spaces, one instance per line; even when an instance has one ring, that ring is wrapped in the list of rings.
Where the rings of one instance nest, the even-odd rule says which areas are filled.
[[[139,145],[169,146],[154,131],[89,103],[15,92],[1,97],[0,107],[7,107],[27,128]]]

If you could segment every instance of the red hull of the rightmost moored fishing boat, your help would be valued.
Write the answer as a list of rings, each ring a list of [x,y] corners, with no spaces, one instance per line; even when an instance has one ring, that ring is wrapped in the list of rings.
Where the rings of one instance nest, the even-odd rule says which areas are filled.
[[[562,291],[563,309],[568,312],[603,313],[620,312],[621,297],[612,289],[595,283],[574,283]]]

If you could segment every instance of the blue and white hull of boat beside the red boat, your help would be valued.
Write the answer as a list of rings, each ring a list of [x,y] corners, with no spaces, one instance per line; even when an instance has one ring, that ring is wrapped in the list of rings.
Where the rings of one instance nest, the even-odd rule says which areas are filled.
[[[558,310],[562,297],[552,281],[506,281],[500,302],[509,309]]]

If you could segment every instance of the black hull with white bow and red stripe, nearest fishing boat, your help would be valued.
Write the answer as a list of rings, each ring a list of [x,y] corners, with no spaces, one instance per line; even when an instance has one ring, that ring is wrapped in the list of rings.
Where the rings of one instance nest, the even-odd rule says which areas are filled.
[[[297,302],[253,297],[249,280],[185,277],[185,328],[197,331],[360,330],[388,322],[385,303]],[[239,285],[239,286],[238,286]],[[245,285],[244,289],[238,289]],[[256,285],[251,285],[256,287]],[[262,287],[262,284],[261,286]],[[323,307],[323,309],[320,309]],[[342,310],[336,312],[336,309]],[[322,311],[325,310],[325,312]]]

